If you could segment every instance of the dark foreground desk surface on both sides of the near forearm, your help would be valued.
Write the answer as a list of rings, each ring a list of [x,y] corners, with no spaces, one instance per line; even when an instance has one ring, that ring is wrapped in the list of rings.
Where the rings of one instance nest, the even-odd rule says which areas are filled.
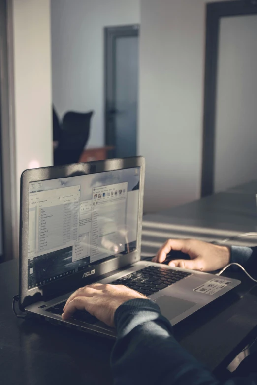
[[[174,327],[178,341],[217,373],[257,333],[257,285],[243,281]],[[10,285],[11,283],[11,285]],[[0,265],[0,373],[4,385],[109,385],[113,341],[54,326],[17,319],[12,297],[18,293],[18,262]]]

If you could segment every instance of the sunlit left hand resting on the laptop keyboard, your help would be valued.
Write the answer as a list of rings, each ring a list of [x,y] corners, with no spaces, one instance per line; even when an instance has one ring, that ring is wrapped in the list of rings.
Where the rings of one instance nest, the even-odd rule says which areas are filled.
[[[102,285],[99,283],[88,285],[76,290],[64,306],[62,318],[72,316],[75,310],[87,310],[90,314],[114,327],[114,313],[116,309],[129,299],[147,297],[124,285]]]

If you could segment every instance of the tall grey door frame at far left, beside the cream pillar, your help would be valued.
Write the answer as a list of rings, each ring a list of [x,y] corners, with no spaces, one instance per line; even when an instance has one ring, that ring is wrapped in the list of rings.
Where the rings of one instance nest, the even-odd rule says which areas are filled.
[[[13,97],[12,1],[0,0],[0,168],[3,256],[18,257]]]

